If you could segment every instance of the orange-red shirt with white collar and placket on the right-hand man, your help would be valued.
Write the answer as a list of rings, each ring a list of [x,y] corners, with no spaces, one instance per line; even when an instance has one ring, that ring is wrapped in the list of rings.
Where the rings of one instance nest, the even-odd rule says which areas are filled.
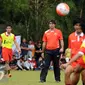
[[[80,37],[79,37],[75,32],[73,32],[72,34],[69,35],[68,48],[71,49],[71,54],[72,54],[71,57],[73,57],[75,54],[77,54],[84,38],[85,38],[84,35],[82,35],[82,36],[80,35]]]

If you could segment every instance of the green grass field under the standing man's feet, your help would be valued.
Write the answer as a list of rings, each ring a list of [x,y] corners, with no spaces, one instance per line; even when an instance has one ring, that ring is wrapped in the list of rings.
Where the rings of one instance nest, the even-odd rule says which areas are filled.
[[[40,71],[12,71],[12,77],[0,85],[64,85],[64,72],[61,72],[61,82],[54,81],[53,71],[49,71],[46,83],[39,83]],[[78,85],[82,85],[81,82]]]

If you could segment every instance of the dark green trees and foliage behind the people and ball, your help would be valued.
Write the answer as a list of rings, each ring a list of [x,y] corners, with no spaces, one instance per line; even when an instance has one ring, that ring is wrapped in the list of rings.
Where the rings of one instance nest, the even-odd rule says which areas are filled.
[[[65,2],[70,6],[70,13],[65,17],[57,15],[57,4]],[[0,23],[11,23],[14,33],[28,40],[41,40],[48,29],[48,21],[55,19],[56,27],[61,29],[67,41],[73,32],[73,20],[85,19],[84,0],[0,0]],[[67,42],[66,42],[67,43]]]

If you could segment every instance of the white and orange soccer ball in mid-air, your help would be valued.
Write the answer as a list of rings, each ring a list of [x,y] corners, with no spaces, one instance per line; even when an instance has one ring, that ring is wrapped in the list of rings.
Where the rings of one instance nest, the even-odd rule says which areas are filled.
[[[56,12],[59,16],[66,16],[70,12],[70,8],[66,3],[60,3],[56,7]]]

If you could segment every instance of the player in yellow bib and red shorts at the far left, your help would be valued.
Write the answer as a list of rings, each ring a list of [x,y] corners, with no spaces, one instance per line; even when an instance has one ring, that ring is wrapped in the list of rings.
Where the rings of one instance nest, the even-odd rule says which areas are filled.
[[[0,36],[0,45],[2,46],[2,57],[5,61],[5,74],[11,77],[9,63],[12,60],[12,46],[16,45],[18,53],[21,53],[21,49],[16,42],[15,35],[12,33],[12,27],[7,25],[6,32]]]

